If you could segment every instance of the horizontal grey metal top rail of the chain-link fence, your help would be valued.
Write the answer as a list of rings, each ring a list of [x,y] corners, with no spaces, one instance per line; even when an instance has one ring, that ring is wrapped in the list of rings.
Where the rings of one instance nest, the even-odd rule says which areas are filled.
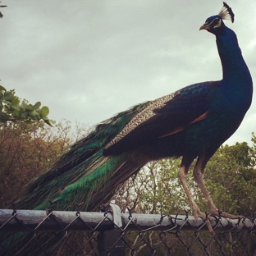
[[[115,210],[116,211],[116,210]],[[0,209],[0,231],[107,231],[114,227],[126,230],[201,230],[207,229],[206,221],[193,216],[169,214],[121,213],[114,220],[114,213]],[[119,223],[117,225],[117,223]],[[256,230],[254,219],[231,220],[213,217],[211,225],[215,231]]]

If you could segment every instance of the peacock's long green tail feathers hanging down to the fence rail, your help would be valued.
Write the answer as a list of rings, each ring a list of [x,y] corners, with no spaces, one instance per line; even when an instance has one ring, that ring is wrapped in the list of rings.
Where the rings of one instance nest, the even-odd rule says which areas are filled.
[[[117,171],[126,178],[142,163],[129,161],[131,153],[104,156],[103,149],[147,103],[132,107],[99,124],[84,139],[76,142],[55,163],[38,176],[16,204],[17,208],[43,210],[74,210],[75,203],[84,203],[82,210],[93,210],[106,201],[121,181]],[[114,177],[115,176],[115,177]],[[112,181],[112,179],[115,181]]]

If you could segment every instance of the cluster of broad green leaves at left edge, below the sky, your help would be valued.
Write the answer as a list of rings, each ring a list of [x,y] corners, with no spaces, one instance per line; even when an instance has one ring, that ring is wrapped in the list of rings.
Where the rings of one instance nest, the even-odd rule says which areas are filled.
[[[7,91],[0,85],[0,124],[16,123],[17,121],[31,123],[43,120],[49,126],[52,126],[51,121],[48,119],[48,113],[48,107],[41,107],[40,102],[32,105],[25,99],[21,101],[16,96],[14,89]]]

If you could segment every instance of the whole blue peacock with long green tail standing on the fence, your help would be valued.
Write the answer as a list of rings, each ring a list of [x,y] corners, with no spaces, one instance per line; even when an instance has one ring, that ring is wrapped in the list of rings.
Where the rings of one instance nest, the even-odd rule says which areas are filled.
[[[208,203],[209,215],[219,215],[203,183],[203,170],[240,126],[253,94],[253,81],[236,35],[223,20],[234,22],[234,13],[226,2],[218,15],[209,17],[199,28],[216,37],[222,80],[186,86],[99,123],[28,186],[16,208],[73,210],[74,202],[83,202],[81,210],[93,211],[109,201],[119,185],[147,162],[181,157],[178,176],[194,220],[206,218],[187,181],[194,160],[194,181]]]

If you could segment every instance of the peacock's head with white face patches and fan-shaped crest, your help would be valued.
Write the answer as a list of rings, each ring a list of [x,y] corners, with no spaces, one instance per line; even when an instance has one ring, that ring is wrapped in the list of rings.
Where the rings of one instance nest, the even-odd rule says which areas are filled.
[[[208,30],[213,34],[222,34],[225,28],[223,20],[234,22],[235,14],[226,2],[223,2],[222,10],[218,15],[209,17],[199,30]]]

